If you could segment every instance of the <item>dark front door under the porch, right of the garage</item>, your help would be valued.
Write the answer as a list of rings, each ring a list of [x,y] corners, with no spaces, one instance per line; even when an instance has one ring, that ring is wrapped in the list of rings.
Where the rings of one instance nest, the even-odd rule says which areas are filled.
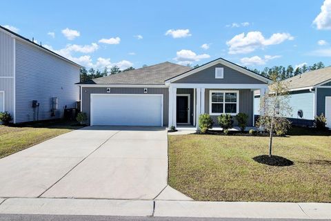
[[[177,95],[177,124],[190,124],[190,95]]]

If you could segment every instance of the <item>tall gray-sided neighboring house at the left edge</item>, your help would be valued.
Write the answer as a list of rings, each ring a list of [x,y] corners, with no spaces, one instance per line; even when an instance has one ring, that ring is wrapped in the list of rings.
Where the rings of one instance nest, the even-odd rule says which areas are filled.
[[[65,107],[77,106],[79,68],[0,26],[0,112],[14,123],[61,117]]]

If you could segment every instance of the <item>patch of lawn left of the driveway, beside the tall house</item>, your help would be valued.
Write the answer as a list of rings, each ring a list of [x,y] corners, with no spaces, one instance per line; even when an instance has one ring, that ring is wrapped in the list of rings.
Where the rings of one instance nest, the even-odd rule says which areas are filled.
[[[57,135],[67,133],[81,126],[75,123],[54,121],[24,124],[21,126],[0,125],[0,158],[39,144]]]

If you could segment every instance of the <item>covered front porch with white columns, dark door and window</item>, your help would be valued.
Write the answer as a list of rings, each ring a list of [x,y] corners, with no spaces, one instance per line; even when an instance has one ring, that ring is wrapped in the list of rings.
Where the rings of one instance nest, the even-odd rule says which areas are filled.
[[[199,130],[199,115],[208,113],[214,128],[221,129],[217,117],[221,114],[246,113],[249,127],[254,126],[254,90],[266,93],[265,84],[170,84],[169,128]],[[234,122],[234,129],[236,129]]]

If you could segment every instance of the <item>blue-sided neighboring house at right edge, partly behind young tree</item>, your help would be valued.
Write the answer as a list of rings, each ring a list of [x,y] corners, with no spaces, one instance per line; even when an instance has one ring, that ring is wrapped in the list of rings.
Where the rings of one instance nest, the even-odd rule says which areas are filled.
[[[312,126],[314,117],[323,113],[327,126],[331,127],[331,66],[285,79],[284,82],[290,88],[292,114],[288,118],[292,124]],[[254,104],[254,112],[259,115],[259,94],[255,95]]]

